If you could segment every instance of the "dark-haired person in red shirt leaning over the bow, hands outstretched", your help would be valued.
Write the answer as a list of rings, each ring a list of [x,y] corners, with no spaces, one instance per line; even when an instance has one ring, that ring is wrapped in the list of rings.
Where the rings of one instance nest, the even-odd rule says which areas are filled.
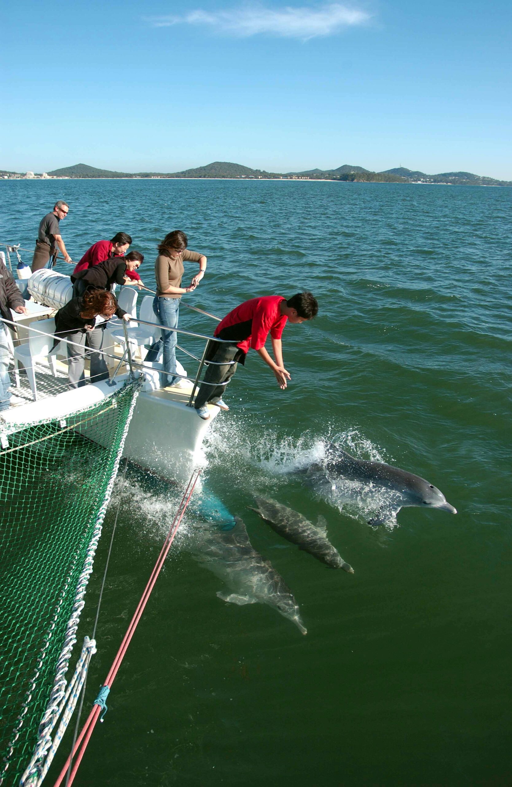
[[[291,375],[283,365],[283,328],[287,320],[291,323],[303,323],[304,320],[313,320],[317,312],[318,303],[310,292],[298,293],[288,300],[280,295],[254,297],[229,312],[224,320],[218,323],[214,332],[214,336],[224,341],[210,342],[207,347],[205,360],[210,361],[210,364],[194,405],[198,416],[205,420],[210,418],[208,404],[217,405],[221,410],[229,410],[228,405],[222,401],[222,394],[235,374],[236,364],[239,361],[245,364],[245,357],[251,347],[263,358],[265,364],[269,365],[276,375],[277,384],[284,390]],[[265,349],[269,334],[275,362]]]

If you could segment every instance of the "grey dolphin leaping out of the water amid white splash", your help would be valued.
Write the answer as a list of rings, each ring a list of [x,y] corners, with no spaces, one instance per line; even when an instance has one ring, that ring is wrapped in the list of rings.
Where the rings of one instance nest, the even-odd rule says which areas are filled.
[[[427,505],[429,508],[457,513],[456,508],[446,501],[444,494],[425,478],[382,462],[356,459],[332,443],[327,444],[322,469],[327,471],[330,478],[337,475],[347,481],[371,484],[386,493],[386,502],[368,521],[373,527],[386,523],[390,517],[397,515],[400,508],[411,505]]]

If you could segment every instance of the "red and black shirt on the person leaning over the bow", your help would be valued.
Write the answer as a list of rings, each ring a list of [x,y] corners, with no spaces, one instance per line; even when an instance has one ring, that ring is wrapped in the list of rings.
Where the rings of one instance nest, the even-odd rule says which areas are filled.
[[[236,342],[244,353],[250,347],[261,349],[269,333],[274,339],[280,339],[283,334],[288,319],[281,314],[284,300],[281,295],[265,295],[241,303],[218,323],[214,336]]]

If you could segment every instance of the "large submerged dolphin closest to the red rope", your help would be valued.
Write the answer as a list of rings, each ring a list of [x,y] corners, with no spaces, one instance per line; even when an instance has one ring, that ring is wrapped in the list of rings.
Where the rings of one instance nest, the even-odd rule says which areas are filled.
[[[307,634],[291,589],[268,560],[256,552],[243,521],[235,517],[235,527],[196,530],[192,552],[196,560],[222,579],[232,591],[218,597],[232,604],[268,604],[291,620],[301,634]]]

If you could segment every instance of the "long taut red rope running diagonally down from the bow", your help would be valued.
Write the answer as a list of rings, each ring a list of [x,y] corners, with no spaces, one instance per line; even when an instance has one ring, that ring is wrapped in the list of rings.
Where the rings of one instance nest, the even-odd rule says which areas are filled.
[[[187,488],[183,493],[183,497],[181,497],[181,501],[177,508],[176,515],[174,516],[174,519],[170,525],[169,533],[166,536],[166,540],[163,542],[163,547],[158,556],[158,560],[156,561],[152,574],[148,579],[148,584],[144,588],[144,593],[142,593],[141,600],[137,604],[137,609],[135,610],[133,614],[133,618],[130,621],[130,626],[128,626],[128,629],[126,630],[126,634],[124,635],[123,641],[119,646],[119,650],[117,652],[117,655],[115,656],[114,662],[112,663],[112,667],[108,672],[107,679],[103,684],[104,686],[108,686],[109,689],[112,688],[112,683],[114,682],[115,675],[117,674],[119,667],[121,666],[121,662],[123,661],[123,657],[126,653],[128,645],[130,645],[130,641],[133,637],[133,634],[135,633],[135,629],[137,628],[137,623],[141,619],[141,615],[144,611],[144,607],[148,603],[148,599],[151,596],[152,589],[155,586],[156,579],[160,573],[160,570],[163,567],[163,563],[166,560],[167,553],[170,550],[170,545],[174,541],[174,536],[176,535],[177,529],[181,524],[181,519],[183,519],[183,515],[185,514],[190,498],[192,497],[192,493],[196,486],[200,472],[201,471],[198,470],[195,473],[192,473],[188,481]],[[85,754],[87,744],[89,743],[90,737],[93,734],[93,729],[94,726],[96,725],[100,712],[101,712],[100,705],[94,704],[92,710],[90,711],[89,718],[87,719],[86,723],[82,727],[82,732],[79,734],[79,737],[76,740],[75,748],[73,749],[70,756],[66,760],[66,764],[64,765],[64,768],[60,771],[59,777],[57,778],[57,781],[55,782],[55,785],[53,785],[53,787],[59,787],[60,783],[62,782],[62,780],[64,779],[65,775],[68,772],[69,763],[75,758],[75,754],[77,754],[78,752],[78,755],[76,756],[75,759],[75,763],[73,765],[73,770],[71,770],[71,774],[68,780],[68,785],[71,785],[73,783],[73,780],[76,775],[76,771],[79,768],[79,764],[82,762],[82,757]],[[83,744],[79,750],[82,741]]]

